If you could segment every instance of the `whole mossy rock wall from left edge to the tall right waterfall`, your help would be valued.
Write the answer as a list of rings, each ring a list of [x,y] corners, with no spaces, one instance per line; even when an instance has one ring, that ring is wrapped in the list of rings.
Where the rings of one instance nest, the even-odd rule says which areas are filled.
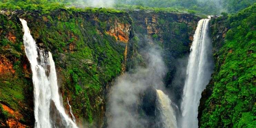
[[[35,122],[32,72],[19,18],[28,22],[38,47],[52,53],[63,105],[69,110],[68,98],[80,127],[106,126],[106,93],[117,76],[137,65],[146,66],[142,49],[157,47],[162,52],[168,67],[166,85],[175,92],[175,101],[181,98],[182,87],[171,83],[175,61],[189,52],[198,16],[89,8],[0,12],[1,127],[33,127]],[[156,92],[148,90],[141,93],[139,104],[151,116]]]

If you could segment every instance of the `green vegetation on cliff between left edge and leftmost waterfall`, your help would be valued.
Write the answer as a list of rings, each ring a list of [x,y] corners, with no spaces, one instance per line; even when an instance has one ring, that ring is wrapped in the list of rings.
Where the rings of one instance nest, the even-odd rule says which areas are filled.
[[[33,107],[31,98],[33,97],[33,87],[31,86],[32,81],[26,79],[28,74],[23,70],[23,66],[27,67],[27,65],[23,65],[26,63],[22,56],[24,55],[22,51],[23,34],[21,26],[15,20],[15,18],[8,20],[8,17],[0,14],[0,63],[9,62],[1,64],[1,66],[5,65],[9,71],[4,75],[0,71],[0,102],[4,102],[15,111],[24,112],[24,120],[31,125],[33,114],[29,108]],[[10,40],[14,35],[16,38]],[[6,117],[10,116],[6,115]]]

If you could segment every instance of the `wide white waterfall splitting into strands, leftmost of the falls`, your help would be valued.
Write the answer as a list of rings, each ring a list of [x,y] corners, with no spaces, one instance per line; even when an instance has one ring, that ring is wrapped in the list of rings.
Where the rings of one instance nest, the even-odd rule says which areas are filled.
[[[39,49],[30,35],[27,22],[20,19],[23,27],[25,52],[31,65],[34,85],[35,128],[77,128],[65,113],[59,95],[55,63],[50,52]],[[52,105],[53,104],[53,105]],[[54,107],[51,107],[54,106]],[[56,115],[50,113],[54,110]],[[53,120],[58,115],[58,121]]]

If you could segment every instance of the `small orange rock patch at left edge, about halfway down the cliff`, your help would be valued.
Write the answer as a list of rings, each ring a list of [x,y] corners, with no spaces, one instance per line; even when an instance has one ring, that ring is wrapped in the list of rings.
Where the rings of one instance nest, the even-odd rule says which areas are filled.
[[[14,73],[12,63],[4,56],[0,55],[0,74],[4,74],[6,72]]]

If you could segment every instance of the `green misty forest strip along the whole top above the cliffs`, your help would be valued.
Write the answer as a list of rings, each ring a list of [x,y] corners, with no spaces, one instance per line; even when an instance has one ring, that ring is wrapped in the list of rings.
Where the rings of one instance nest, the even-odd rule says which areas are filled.
[[[237,12],[255,2],[256,0],[1,0],[0,8],[50,11],[65,6],[122,7],[220,14]]]

